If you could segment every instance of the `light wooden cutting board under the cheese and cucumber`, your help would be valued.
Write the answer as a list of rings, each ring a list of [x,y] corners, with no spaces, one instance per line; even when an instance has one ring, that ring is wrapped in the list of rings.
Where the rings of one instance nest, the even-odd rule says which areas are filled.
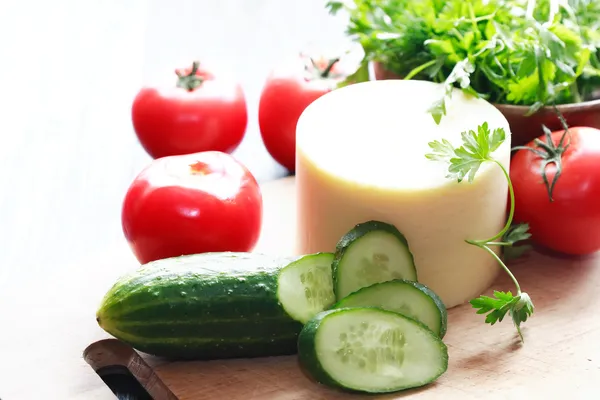
[[[294,252],[294,178],[263,186],[257,252]],[[124,365],[156,400],[596,399],[600,388],[600,255],[564,258],[532,251],[510,264],[535,305],[521,344],[510,317],[489,326],[470,305],[448,313],[449,368],[435,383],[384,396],[341,393],[311,381],[296,357],[166,362],[114,339],[92,343],[94,369]],[[504,274],[493,285],[513,290]]]

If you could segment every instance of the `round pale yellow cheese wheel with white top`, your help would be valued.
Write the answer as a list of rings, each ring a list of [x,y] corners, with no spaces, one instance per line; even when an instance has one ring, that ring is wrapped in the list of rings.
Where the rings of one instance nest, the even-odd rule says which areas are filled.
[[[487,239],[506,221],[508,183],[484,163],[473,183],[446,178],[425,158],[428,142],[460,146],[461,132],[487,122],[504,128],[494,153],[508,169],[510,129],[488,102],[455,91],[436,125],[427,109],[443,87],[424,81],[372,81],[337,89],[306,108],[296,130],[297,251],[333,251],[354,225],[394,224],[406,236],[420,282],[447,307],[478,296],[497,261],[465,239]]]

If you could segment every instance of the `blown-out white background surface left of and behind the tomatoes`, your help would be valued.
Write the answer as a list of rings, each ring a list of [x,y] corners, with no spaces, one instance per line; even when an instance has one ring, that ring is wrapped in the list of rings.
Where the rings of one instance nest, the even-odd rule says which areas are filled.
[[[0,5],[0,398],[114,399],[82,350],[91,315],[134,264],[120,208],[149,161],[130,106],[200,58],[247,93],[235,152],[261,182],[287,174],[257,122],[269,69],[342,24],[321,0],[5,0]],[[310,24],[306,21],[310,20]],[[317,29],[315,29],[317,27]]]

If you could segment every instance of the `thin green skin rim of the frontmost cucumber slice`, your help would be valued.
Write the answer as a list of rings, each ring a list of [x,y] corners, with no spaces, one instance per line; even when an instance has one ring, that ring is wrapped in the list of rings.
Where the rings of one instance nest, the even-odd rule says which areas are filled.
[[[392,311],[383,310],[381,308],[348,307],[348,308],[336,308],[336,309],[332,309],[332,310],[327,310],[327,311],[323,311],[323,312],[317,314],[315,316],[315,318],[313,318],[307,324],[304,325],[304,328],[302,329],[302,331],[300,332],[300,335],[298,336],[298,359],[300,361],[300,365],[302,366],[302,368],[304,368],[304,370],[306,370],[309,373],[310,376],[313,377],[313,379],[315,381],[317,381],[318,383],[320,383],[322,385],[341,389],[343,391],[350,392],[350,393],[372,393],[372,394],[393,393],[393,392],[390,392],[389,390],[365,391],[365,390],[358,390],[358,389],[345,387],[344,385],[340,384],[338,381],[333,379],[331,377],[331,375],[329,375],[329,373],[327,373],[327,371],[325,371],[325,369],[323,369],[321,362],[319,361],[319,357],[318,357],[317,351],[316,351],[317,346],[315,346],[315,339],[317,337],[317,330],[319,329],[319,326],[321,325],[323,320],[326,319],[331,314],[343,313],[346,311],[351,311],[351,310],[356,310],[356,309],[363,309],[363,310],[364,309],[375,309],[382,313],[399,315],[402,318],[409,319],[409,320],[413,321],[414,323],[416,323],[417,325],[420,325],[427,332],[431,333],[431,335],[436,339],[436,341],[438,341],[440,346],[444,349],[444,352],[446,354],[441,372],[437,376],[435,376],[433,379],[431,379],[429,383],[435,381],[437,378],[439,378],[446,372],[446,370],[448,369],[448,348],[444,344],[444,342],[442,342],[442,340],[440,338],[438,338],[437,335],[435,335],[431,331],[431,329],[429,329],[423,323],[421,323],[417,320],[414,320],[410,317],[407,317],[405,315],[398,314],[398,313],[395,313]],[[421,386],[425,386],[429,383],[424,383]],[[401,390],[414,389],[417,387],[419,387],[419,386],[411,386],[410,388],[396,390],[396,392],[399,392]]]

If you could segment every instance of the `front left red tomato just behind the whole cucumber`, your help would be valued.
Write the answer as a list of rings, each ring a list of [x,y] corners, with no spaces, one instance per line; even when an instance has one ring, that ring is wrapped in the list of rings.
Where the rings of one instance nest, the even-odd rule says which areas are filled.
[[[209,151],[154,160],[129,187],[125,238],[140,263],[210,251],[250,251],[260,235],[262,195],[248,169]]]

